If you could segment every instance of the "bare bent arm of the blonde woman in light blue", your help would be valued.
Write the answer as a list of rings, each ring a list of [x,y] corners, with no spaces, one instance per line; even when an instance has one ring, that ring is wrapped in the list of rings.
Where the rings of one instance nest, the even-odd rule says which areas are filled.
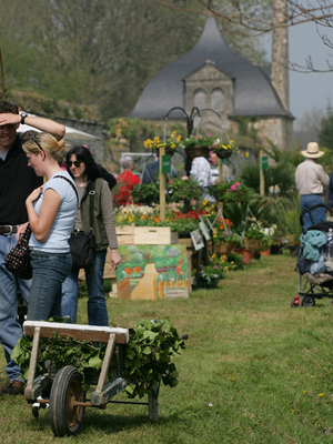
[[[59,210],[61,198],[57,191],[48,189],[44,192],[43,201],[40,205],[39,215],[37,215],[33,203],[42,192],[42,186],[37,188],[26,200],[28,218],[32,233],[38,242],[46,242],[49,238],[57,212]]]

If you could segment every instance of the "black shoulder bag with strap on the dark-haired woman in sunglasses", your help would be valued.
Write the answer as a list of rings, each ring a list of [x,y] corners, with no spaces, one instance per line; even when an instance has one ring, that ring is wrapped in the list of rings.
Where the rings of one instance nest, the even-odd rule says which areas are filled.
[[[95,239],[92,233],[92,220],[93,220],[93,199],[95,191],[93,190],[94,182],[91,182],[89,188],[90,199],[90,232],[84,234],[82,232],[73,233],[69,239],[69,244],[72,255],[72,266],[79,269],[87,269],[93,265],[95,254]]]

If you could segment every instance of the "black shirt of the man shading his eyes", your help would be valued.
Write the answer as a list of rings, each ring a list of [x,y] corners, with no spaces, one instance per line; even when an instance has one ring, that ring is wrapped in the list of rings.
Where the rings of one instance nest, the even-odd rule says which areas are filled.
[[[22,150],[19,135],[7,153],[0,159],[0,225],[19,225],[28,222],[26,199],[38,186],[43,178],[38,178]]]

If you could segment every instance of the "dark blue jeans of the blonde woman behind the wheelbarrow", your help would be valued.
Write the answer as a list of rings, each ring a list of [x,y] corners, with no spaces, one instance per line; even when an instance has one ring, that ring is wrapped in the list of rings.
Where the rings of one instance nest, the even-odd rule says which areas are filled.
[[[72,266],[71,253],[47,253],[32,250],[32,283],[28,321],[48,321],[61,316],[61,285]]]

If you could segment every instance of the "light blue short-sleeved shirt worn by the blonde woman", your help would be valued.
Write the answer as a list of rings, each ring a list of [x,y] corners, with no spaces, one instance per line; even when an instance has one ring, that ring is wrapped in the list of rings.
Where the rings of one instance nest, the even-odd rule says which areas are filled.
[[[72,226],[78,211],[78,198],[72,186],[63,179],[54,175],[63,175],[68,178],[75,186],[73,180],[67,171],[59,171],[44,183],[43,191],[39,200],[34,204],[34,211],[39,214],[44,192],[48,189],[54,190],[61,198],[61,203],[56,214],[53,225],[49,238],[44,242],[38,242],[31,233],[29,248],[31,250],[43,251],[49,253],[67,253],[70,251],[68,239],[71,235]]]

